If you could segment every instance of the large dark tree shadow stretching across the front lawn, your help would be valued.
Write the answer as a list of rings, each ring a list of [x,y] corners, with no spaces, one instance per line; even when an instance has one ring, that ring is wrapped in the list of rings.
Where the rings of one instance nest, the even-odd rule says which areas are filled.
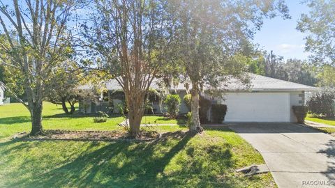
[[[49,185],[64,187],[70,185],[70,187],[91,187],[94,185],[94,187],[128,187],[143,185],[142,181],[149,185],[149,182],[156,180],[158,173],[163,172],[170,159],[186,146],[192,136],[184,132],[170,132],[164,134],[159,141],[152,143],[113,142],[93,152],[84,152],[72,162],[68,162],[57,169],[47,173],[37,173],[34,181],[20,180],[8,186],[45,187]],[[179,141],[163,157],[153,157],[156,145],[158,143],[166,145],[170,139],[179,139]],[[11,142],[13,143],[13,141]],[[10,148],[10,150],[22,149],[22,147],[26,147],[24,143],[27,142]],[[4,151],[3,154],[6,154],[6,152],[8,151]],[[114,157],[119,158],[120,155],[124,156],[124,158],[120,158],[120,161],[113,162],[110,160]],[[120,165],[121,163],[123,164]],[[100,175],[110,176],[111,179],[96,181],[95,179]]]

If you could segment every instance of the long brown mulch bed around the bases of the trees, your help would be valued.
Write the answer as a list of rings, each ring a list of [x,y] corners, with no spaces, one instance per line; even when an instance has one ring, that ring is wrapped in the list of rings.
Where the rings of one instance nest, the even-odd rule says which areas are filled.
[[[45,130],[43,134],[30,136],[22,132],[13,136],[14,139],[32,140],[66,140],[66,141],[153,141],[159,139],[161,134],[155,131],[141,131],[135,139],[128,132],[116,131],[69,131],[69,130]]]

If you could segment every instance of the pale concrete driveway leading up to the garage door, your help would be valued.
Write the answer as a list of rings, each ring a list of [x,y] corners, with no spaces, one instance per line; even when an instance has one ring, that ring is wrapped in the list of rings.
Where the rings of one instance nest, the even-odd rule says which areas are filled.
[[[230,123],[258,150],[278,187],[335,187],[335,137],[292,123]]]

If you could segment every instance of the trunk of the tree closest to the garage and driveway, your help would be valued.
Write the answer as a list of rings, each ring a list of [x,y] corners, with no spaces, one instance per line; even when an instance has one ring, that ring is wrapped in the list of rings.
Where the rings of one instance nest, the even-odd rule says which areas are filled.
[[[200,118],[199,118],[199,88],[198,84],[193,84],[192,91],[191,91],[191,132],[202,132],[203,129],[200,125]]]

